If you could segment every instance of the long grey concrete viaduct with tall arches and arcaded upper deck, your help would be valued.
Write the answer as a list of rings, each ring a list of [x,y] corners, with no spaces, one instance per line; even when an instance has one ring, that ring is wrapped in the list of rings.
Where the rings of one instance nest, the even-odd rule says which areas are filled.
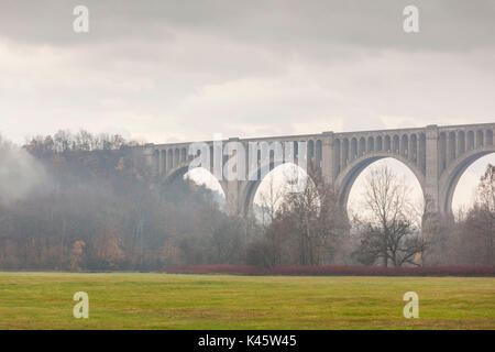
[[[334,185],[342,207],[360,173],[370,164],[393,157],[416,175],[432,210],[451,215],[452,197],[463,172],[477,158],[495,152],[495,123],[464,125],[428,125],[416,129],[323,132],[319,134],[229,139],[223,142],[306,142],[307,161]],[[213,141],[206,141],[211,151]],[[187,173],[194,155],[190,143],[146,144],[133,150],[134,157],[152,167],[155,177],[170,182]],[[297,144],[296,144],[297,145]],[[297,156],[296,156],[297,160]],[[261,165],[258,165],[261,167]],[[270,169],[273,168],[273,163]],[[219,180],[231,215],[246,216],[262,179]]]

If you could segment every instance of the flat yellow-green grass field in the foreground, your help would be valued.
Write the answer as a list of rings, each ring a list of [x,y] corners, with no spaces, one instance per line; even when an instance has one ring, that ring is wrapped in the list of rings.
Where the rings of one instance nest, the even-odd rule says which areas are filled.
[[[0,329],[495,329],[495,278],[0,273]]]

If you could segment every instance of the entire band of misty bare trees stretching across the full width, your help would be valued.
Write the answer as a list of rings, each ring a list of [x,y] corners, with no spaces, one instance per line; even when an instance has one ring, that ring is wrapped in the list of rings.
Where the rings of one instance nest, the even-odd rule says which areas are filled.
[[[494,265],[495,166],[455,219],[425,213],[394,170],[373,166],[348,221],[317,173],[299,193],[268,187],[262,219],[228,216],[212,190],[157,180],[119,135],[59,131],[0,139],[0,268],[160,271],[199,264]]]

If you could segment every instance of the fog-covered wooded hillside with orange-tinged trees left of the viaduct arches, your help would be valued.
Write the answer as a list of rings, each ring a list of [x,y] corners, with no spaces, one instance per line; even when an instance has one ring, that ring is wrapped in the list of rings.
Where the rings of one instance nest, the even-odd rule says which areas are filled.
[[[19,194],[7,193],[0,204],[0,266],[148,271],[243,263],[256,224],[229,218],[209,189],[189,180],[156,183],[128,157],[129,144],[84,131],[34,138],[23,148],[3,143],[2,158],[21,157],[29,167],[2,173],[2,184],[20,172],[32,184],[14,182]]]

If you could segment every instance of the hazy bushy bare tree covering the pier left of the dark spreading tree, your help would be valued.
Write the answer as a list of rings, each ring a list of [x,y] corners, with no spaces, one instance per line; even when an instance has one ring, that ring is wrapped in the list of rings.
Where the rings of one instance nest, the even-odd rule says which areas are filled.
[[[329,264],[346,233],[348,222],[332,186],[311,169],[306,177],[299,191],[285,193],[266,231],[270,250],[257,249],[264,257],[272,253],[275,264]]]

